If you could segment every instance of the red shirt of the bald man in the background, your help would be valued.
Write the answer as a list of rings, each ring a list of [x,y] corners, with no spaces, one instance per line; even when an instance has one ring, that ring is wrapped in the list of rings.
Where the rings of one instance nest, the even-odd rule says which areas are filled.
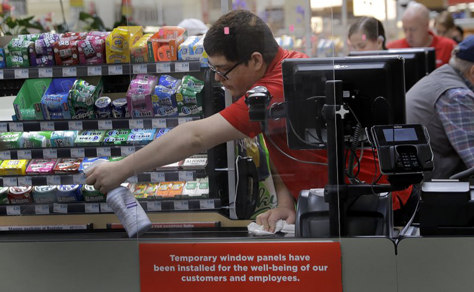
[[[456,46],[456,42],[450,38],[435,35],[433,32],[430,32],[430,34],[433,36],[433,41],[431,42],[430,47],[433,47],[436,50],[436,68],[448,64],[449,59],[451,58],[451,52]],[[411,47],[406,42],[406,38],[402,38],[389,42],[387,48],[401,49]]]

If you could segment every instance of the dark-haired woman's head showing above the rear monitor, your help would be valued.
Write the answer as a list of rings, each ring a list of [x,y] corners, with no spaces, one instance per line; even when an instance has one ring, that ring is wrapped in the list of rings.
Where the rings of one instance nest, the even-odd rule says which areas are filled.
[[[349,29],[348,43],[352,51],[387,50],[384,26],[376,18],[360,17]]]

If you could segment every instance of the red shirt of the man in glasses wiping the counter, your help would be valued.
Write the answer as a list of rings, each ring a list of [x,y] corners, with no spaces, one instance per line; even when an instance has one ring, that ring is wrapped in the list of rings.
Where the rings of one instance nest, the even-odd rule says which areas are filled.
[[[268,66],[265,76],[255,83],[252,87],[262,85],[267,87],[273,95],[272,103],[283,101],[283,79],[281,74],[281,61],[287,58],[307,58],[306,55],[298,52],[289,52],[281,48]],[[220,114],[237,130],[246,134],[249,137],[255,137],[261,133],[260,124],[257,122],[250,122],[248,117],[248,107],[245,104],[245,97],[240,97],[237,102],[225,108]],[[326,150],[292,150],[288,148],[286,140],[286,123],[284,119],[277,121],[268,121],[267,129],[270,137],[275,144],[288,155],[301,160],[309,162],[327,162]],[[275,146],[268,140],[267,135],[264,134],[265,142],[268,151],[275,164],[278,174],[285,183],[291,194],[297,199],[301,190],[324,188],[327,184],[327,166],[315,165],[302,162],[296,162],[287,158],[284,154],[278,151]],[[378,163],[378,162],[377,162]],[[358,178],[367,183],[371,183],[374,177],[374,158],[371,151],[365,151],[363,159],[360,163],[360,173]],[[386,182],[381,180],[380,182]],[[396,192],[402,203],[408,199],[411,188]],[[394,209],[400,207],[397,195],[394,195]]]

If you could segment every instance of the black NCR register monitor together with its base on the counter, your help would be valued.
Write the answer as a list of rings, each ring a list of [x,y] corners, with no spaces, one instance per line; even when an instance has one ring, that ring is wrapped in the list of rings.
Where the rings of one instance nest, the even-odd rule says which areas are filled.
[[[354,131],[354,115],[362,129],[372,125],[405,124],[403,69],[403,59],[398,56],[284,60],[288,146],[292,149],[326,148],[324,143],[317,144],[315,137],[318,128],[321,130],[325,124],[320,109],[325,103],[325,83],[330,80],[342,80],[343,99],[351,107],[352,113],[343,120],[345,135]],[[314,98],[319,100],[314,102]],[[296,134],[309,143],[301,141]],[[339,159],[344,159],[343,155],[340,154]],[[297,208],[297,236],[328,236],[328,206],[323,196],[302,190]],[[346,208],[343,212],[346,212],[348,235],[392,235],[390,196],[362,195],[348,201]]]

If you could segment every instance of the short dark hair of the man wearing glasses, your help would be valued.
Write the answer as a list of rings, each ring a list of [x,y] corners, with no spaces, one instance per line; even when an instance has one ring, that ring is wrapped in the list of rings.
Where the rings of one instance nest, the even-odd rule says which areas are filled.
[[[259,52],[265,63],[270,64],[276,56],[278,44],[270,28],[258,16],[247,10],[233,10],[209,28],[204,38],[204,50],[211,57],[222,55],[231,62],[247,58],[245,64],[252,53]]]

